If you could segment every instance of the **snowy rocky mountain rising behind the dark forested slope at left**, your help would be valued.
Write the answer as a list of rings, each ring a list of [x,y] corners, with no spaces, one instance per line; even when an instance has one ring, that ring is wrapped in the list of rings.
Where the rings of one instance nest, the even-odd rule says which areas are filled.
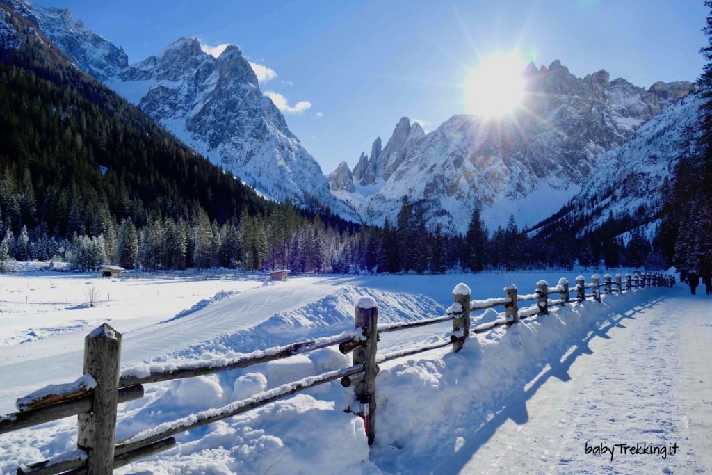
[[[66,9],[26,0],[0,0],[65,51],[74,63],[212,162],[264,196],[290,199],[347,219],[355,212],[331,194],[318,162],[287,127],[282,113],[260,90],[257,76],[237,46],[215,58],[196,38],[179,38],[134,65],[121,48],[74,22]]]

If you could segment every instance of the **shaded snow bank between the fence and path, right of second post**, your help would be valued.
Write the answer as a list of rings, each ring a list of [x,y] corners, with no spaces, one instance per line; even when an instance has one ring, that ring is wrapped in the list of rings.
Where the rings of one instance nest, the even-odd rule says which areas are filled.
[[[630,308],[642,295],[651,298],[650,293],[626,293],[607,296],[603,303],[552,308],[550,315],[471,335],[460,353],[441,350],[427,360],[382,368],[372,460],[384,471],[409,473],[422,471],[423,463],[431,466],[426,460],[452,456],[453,447],[466,442],[459,439],[498,412],[503,397],[520,391],[545,365],[556,365],[597,323],[616,309]]]

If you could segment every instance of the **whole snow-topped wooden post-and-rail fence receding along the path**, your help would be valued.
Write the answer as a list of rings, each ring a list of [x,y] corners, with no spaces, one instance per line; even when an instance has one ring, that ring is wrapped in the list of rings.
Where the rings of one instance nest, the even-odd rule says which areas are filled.
[[[669,287],[675,285],[674,276],[661,273],[626,274],[625,281],[617,274],[615,281],[606,274],[603,283],[593,275],[591,282],[576,278],[575,286],[570,286],[565,278],[560,278],[557,286],[549,287],[546,281],[536,284],[534,293],[519,295],[517,288],[509,284],[501,298],[483,301],[470,300],[470,288],[460,283],[453,290],[453,304],[446,315],[426,320],[406,323],[378,325],[378,306],[370,297],[361,298],[355,305],[356,328],[352,332],[334,337],[319,338],[284,347],[256,351],[243,357],[221,364],[210,364],[201,360],[184,363],[172,370],[148,372],[128,368],[120,371],[121,334],[103,324],[85,338],[84,375],[68,385],[45,388],[18,400],[19,412],[0,416],[0,434],[12,432],[37,424],[43,424],[64,417],[78,416],[77,449],[59,454],[52,459],[17,469],[18,474],[110,474],[113,469],[131,461],[174,447],[174,435],[216,422],[256,407],[280,400],[310,387],[340,380],[344,387],[354,387],[355,407],[348,410],[365,421],[368,443],[372,444],[376,435],[376,376],[379,363],[400,357],[415,355],[425,351],[452,345],[454,352],[461,350],[471,334],[486,333],[502,325],[514,325],[520,320],[534,315],[547,315],[552,306],[565,306],[571,302],[587,299],[601,301],[601,294],[626,293],[646,287]],[[572,296],[575,293],[575,296]],[[558,298],[551,299],[550,296]],[[523,301],[534,301],[532,306],[519,308]],[[473,310],[484,310],[503,306],[503,318],[493,322],[472,326],[470,315]],[[452,322],[449,339],[419,348],[397,350],[378,355],[377,346],[381,333],[408,330],[424,325]],[[338,345],[343,354],[353,352],[353,365],[341,370],[306,377],[258,393],[248,400],[236,401],[224,407],[203,411],[198,417],[188,416],[171,423],[160,424],[149,431],[115,440],[117,404],[136,400],[144,395],[144,384],[177,380],[184,377],[209,375],[223,371],[244,368],[259,363],[308,353]]]

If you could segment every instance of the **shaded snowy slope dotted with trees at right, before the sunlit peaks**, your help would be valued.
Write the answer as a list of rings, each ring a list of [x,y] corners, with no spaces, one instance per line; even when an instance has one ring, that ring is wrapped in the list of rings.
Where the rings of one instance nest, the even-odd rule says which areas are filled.
[[[554,219],[532,230],[546,232],[545,225],[581,221],[579,234],[592,231],[609,216],[625,219],[636,216],[642,233],[655,236],[661,209],[661,187],[674,176],[679,157],[689,152],[685,139],[697,130],[699,107],[703,98],[697,93],[676,100],[662,113],[642,125],[621,147],[604,153],[587,176],[580,194]],[[627,236],[624,236],[626,238]]]

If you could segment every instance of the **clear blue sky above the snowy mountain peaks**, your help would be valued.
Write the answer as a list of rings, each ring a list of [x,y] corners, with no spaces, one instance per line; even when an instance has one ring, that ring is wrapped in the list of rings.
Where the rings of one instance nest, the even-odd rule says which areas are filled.
[[[560,59],[578,76],[609,71],[644,87],[694,80],[702,0],[162,1],[36,0],[72,11],[123,46],[130,63],[180,36],[238,45],[276,77],[261,85],[288,106],[290,129],[331,172],[355,165],[399,118],[433,130],[471,113],[461,84],[478,57],[518,50]]]

